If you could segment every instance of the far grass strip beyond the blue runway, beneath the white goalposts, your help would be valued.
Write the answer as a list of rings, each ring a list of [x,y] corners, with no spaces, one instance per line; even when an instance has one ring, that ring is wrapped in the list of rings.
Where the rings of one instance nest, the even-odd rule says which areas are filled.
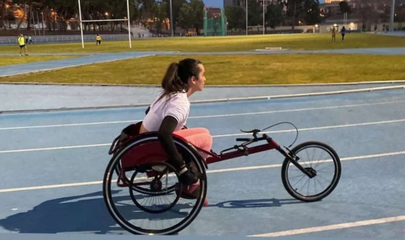
[[[373,34],[346,34],[341,42],[330,42],[330,34],[271,34],[255,36],[193,37],[193,38],[155,38],[133,40],[132,48],[128,41],[103,41],[101,46],[94,42],[30,45],[30,53],[106,53],[123,51],[192,51],[226,52],[251,51],[265,47],[314,50],[336,48],[369,48],[405,46],[405,39],[395,36]],[[18,46],[0,46],[2,53],[17,53]]]

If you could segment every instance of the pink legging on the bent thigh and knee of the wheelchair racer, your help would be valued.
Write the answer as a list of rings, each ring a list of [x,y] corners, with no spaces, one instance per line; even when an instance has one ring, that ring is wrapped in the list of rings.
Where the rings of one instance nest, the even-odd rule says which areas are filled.
[[[188,128],[175,131],[174,134],[184,137],[194,146],[204,149],[209,152],[212,147],[212,137],[209,134],[207,128]],[[200,152],[204,159],[208,157],[208,154]]]

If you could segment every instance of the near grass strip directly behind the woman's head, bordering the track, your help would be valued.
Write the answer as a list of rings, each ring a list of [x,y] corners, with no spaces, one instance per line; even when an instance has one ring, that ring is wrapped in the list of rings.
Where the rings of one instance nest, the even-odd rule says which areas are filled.
[[[405,57],[330,54],[156,56],[0,78],[1,82],[160,84],[169,63],[203,61],[207,85],[405,79]]]

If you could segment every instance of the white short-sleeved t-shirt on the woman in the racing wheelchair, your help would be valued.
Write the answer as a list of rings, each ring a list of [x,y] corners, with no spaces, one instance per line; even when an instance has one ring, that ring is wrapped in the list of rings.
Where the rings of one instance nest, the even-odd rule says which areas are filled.
[[[143,126],[150,132],[158,131],[163,118],[172,116],[177,120],[175,131],[183,128],[190,113],[190,101],[188,101],[187,93],[175,93],[168,101],[166,101],[168,96],[164,96],[158,101],[159,97],[160,94],[151,104],[148,114],[143,119]]]

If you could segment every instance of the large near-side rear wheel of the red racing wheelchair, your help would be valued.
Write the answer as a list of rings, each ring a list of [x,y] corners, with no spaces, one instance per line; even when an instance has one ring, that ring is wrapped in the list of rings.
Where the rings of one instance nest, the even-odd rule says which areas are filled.
[[[116,171],[130,149],[158,141],[154,134],[133,139],[114,154],[104,174],[103,196],[109,213],[121,227],[133,234],[175,234],[181,231],[197,217],[207,194],[205,166],[201,156],[179,139],[174,139],[179,152],[187,156],[185,159],[190,160],[188,164],[203,176],[195,198],[178,196],[181,185],[178,184],[177,173],[169,164],[152,160],[133,169],[122,170],[125,173]],[[156,173],[158,177],[154,176]],[[117,179],[123,174],[129,184],[117,185]]]

